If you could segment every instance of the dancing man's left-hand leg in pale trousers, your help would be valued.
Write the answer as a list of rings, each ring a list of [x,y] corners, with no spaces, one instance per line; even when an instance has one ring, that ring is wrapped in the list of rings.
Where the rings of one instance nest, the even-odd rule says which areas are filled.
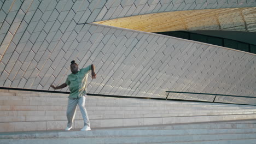
[[[67,107],[67,119],[68,119],[67,127],[68,128],[72,127],[72,123],[75,117],[75,111],[77,110],[77,102],[78,102],[78,99],[72,99],[72,98],[68,99],[68,107]]]

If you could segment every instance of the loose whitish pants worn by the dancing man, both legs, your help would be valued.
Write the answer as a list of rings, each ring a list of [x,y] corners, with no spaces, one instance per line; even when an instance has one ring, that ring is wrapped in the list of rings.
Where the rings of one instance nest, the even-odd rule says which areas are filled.
[[[80,98],[68,98],[68,107],[67,107],[67,127],[72,127],[72,123],[75,117],[75,111],[77,110],[77,104],[79,105],[80,111],[84,119],[84,126],[88,125],[90,127],[90,121],[88,118],[87,111],[85,109],[85,96]]]

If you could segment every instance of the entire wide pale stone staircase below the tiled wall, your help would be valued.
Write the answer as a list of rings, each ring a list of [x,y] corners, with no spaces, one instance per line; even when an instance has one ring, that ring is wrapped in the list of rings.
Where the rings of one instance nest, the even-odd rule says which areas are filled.
[[[71,131],[68,94],[0,89],[0,143],[256,143],[256,106],[88,96]]]

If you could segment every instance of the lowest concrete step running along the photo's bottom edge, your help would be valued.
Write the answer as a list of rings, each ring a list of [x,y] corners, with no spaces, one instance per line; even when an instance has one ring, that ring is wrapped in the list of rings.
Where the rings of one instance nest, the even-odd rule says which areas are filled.
[[[0,140],[1,143],[3,144],[27,144],[27,143],[37,143],[37,144],[45,144],[45,143],[62,143],[62,144],[77,144],[77,143],[97,143],[97,144],[114,144],[114,143],[125,143],[125,144],[133,144],[133,143],[139,143],[139,144],[241,144],[241,143],[246,143],[246,144],[255,144],[256,139],[224,139],[224,140],[187,140],[187,141],[181,141],[181,139],[184,139],[184,137],[179,137],[174,140],[172,137],[158,137],[158,139],[153,139],[155,137],[136,137],[130,138],[126,137],[126,139],[115,139],[109,138],[80,138],[80,139],[29,139],[29,140]],[[193,139],[193,137],[188,137],[187,139]],[[164,139],[160,141],[161,139]],[[180,140],[180,141],[179,141]],[[128,142],[127,142],[128,141]]]

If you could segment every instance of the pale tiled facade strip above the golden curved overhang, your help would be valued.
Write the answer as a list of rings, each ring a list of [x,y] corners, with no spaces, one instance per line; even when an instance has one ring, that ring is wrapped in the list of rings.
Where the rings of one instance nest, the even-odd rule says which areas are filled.
[[[256,7],[255,0],[112,0],[103,5],[95,21],[119,17],[196,9]],[[91,21],[90,21],[91,22]]]

